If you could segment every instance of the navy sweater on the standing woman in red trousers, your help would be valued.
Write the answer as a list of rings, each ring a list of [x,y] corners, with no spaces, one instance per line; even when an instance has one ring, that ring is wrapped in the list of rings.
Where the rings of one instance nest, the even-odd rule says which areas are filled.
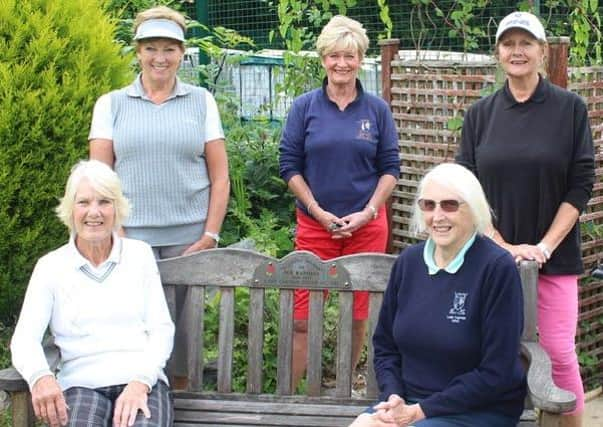
[[[359,81],[356,88],[358,96],[344,111],[324,84],[296,98],[280,145],[281,177],[288,182],[301,175],[318,204],[339,217],[364,209],[382,175],[400,174],[388,105],[365,93]],[[298,207],[306,212],[299,201]]]

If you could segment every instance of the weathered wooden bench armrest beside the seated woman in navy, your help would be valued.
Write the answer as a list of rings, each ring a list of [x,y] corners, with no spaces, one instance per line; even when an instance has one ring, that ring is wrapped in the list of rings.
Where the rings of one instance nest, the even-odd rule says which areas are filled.
[[[576,407],[574,393],[553,382],[551,360],[537,342],[522,342],[522,354],[528,360],[528,395],[536,408],[560,414]]]

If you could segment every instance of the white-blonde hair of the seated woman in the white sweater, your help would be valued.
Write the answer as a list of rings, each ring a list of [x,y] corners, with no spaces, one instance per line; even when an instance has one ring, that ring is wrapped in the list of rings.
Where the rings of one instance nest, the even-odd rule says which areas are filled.
[[[56,208],[57,216],[70,232],[75,230],[73,206],[81,182],[87,179],[101,196],[113,202],[114,228],[117,230],[130,213],[130,203],[121,190],[121,181],[113,169],[98,160],[81,160],[72,169],[65,186],[65,194]]]

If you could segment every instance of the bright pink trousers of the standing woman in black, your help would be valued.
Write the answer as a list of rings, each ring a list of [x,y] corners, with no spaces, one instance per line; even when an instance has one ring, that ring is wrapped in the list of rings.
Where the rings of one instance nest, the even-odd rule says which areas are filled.
[[[584,387],[576,355],[578,323],[578,276],[538,276],[538,333],[540,344],[551,357],[553,381],[576,395],[576,409],[584,410]]]

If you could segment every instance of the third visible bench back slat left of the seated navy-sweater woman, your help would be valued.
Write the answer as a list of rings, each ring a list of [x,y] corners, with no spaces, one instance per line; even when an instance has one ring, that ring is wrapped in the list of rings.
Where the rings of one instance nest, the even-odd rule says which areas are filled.
[[[310,291],[308,316],[308,396],[320,396],[322,386],[322,341],[324,332],[324,293]]]

